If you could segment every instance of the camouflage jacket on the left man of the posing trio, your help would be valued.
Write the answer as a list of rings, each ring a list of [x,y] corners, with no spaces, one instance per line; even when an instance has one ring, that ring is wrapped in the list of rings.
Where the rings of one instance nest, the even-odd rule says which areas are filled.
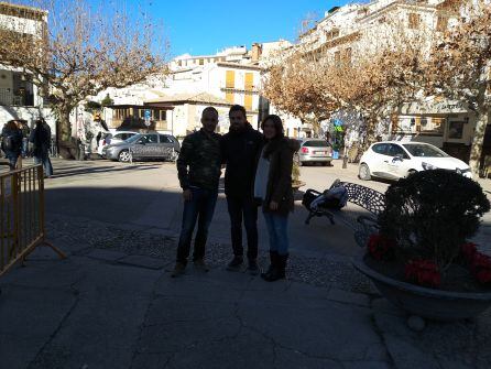
[[[220,134],[203,129],[187,135],[177,159],[177,173],[183,189],[196,186],[218,189],[221,174]]]

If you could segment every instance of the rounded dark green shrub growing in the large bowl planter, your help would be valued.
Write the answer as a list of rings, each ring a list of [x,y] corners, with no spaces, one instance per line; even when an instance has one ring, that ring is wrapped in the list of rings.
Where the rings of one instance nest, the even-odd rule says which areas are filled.
[[[379,217],[381,235],[401,251],[433,260],[445,270],[490,209],[481,186],[456,172],[418,172],[391,185]]]

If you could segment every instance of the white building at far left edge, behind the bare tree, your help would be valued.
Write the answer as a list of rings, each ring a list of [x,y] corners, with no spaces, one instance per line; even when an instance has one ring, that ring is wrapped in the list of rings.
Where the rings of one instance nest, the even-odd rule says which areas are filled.
[[[47,26],[45,11],[0,2],[0,32],[15,32],[41,37]],[[0,126],[11,119],[23,119],[30,127],[43,117],[50,123],[53,134],[56,124],[51,109],[44,107],[41,90],[33,84],[36,76],[22,68],[1,64],[0,55]]]

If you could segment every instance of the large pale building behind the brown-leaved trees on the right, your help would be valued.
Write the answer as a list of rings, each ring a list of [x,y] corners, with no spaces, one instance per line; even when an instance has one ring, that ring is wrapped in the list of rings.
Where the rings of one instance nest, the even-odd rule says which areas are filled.
[[[380,43],[399,42],[400,32],[407,40],[423,29],[429,30],[429,36],[446,31],[459,17],[458,3],[456,0],[377,0],[335,7],[301,36],[296,47],[335,64],[356,62],[357,55],[370,53]],[[388,119],[391,124],[385,137],[426,141],[462,160],[469,158],[474,117],[456,101],[407,104],[400,108],[399,115]]]

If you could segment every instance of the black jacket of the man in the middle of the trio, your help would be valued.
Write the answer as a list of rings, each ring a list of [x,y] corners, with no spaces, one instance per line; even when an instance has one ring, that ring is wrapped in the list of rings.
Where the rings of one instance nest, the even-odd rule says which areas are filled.
[[[252,197],[258,156],[263,144],[263,135],[251,124],[236,132],[230,131],[221,138],[225,193],[231,197]]]

